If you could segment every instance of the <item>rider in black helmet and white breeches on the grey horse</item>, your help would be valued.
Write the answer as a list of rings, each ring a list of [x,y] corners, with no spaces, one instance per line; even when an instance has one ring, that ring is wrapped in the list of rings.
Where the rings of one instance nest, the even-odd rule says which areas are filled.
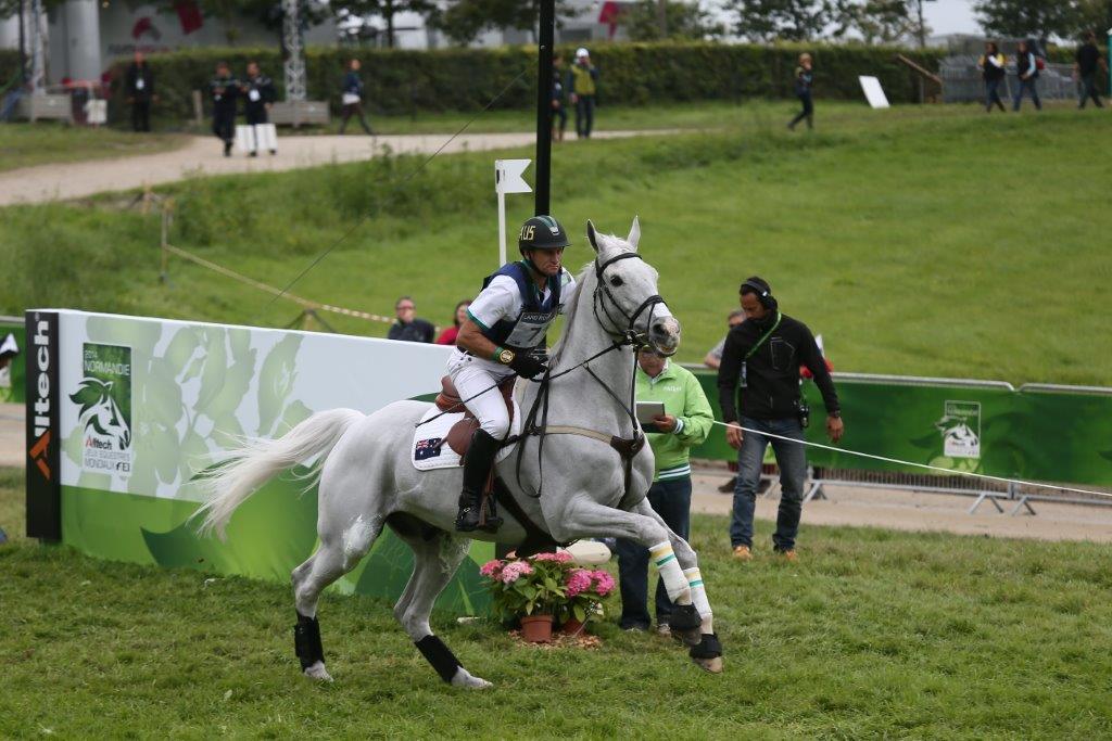
[[[484,391],[515,373],[532,379],[545,371],[545,333],[575,288],[575,280],[563,267],[568,244],[567,233],[553,217],[526,221],[517,236],[524,259],[503,266],[483,281],[483,291],[467,308],[459,328],[448,374],[479,421],[464,460],[456,517],[460,532],[479,527],[483,488],[500,442],[509,434],[509,411],[502,394],[495,389]],[[499,523],[490,518],[486,528],[495,529]]]

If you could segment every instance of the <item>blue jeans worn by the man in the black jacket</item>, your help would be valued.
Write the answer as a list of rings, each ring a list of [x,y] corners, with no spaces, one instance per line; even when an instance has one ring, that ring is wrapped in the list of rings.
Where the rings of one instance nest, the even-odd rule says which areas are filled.
[[[775,420],[741,419],[742,427],[803,440],[803,428],[794,417]],[[734,517],[729,523],[729,542],[733,547],[753,547],[753,510],[756,508],[757,485],[761,483],[761,463],[768,443],[780,467],[780,510],[776,512],[776,532],[772,537],[776,550],[795,548],[800,532],[800,513],[803,511],[803,484],[807,479],[807,455],[803,445],[766,438],[757,432],[745,432],[742,449],[737,451],[737,483],[734,487]]]

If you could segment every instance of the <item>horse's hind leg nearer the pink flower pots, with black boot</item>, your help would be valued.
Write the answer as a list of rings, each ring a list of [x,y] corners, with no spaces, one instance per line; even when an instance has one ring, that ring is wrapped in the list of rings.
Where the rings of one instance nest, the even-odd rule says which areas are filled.
[[[466,558],[470,540],[428,527],[418,531],[407,527],[409,522],[394,518],[390,525],[414,551],[414,571],[401,599],[394,605],[394,617],[445,682],[471,689],[492,687],[490,682],[464,669],[428,624],[433,604]]]

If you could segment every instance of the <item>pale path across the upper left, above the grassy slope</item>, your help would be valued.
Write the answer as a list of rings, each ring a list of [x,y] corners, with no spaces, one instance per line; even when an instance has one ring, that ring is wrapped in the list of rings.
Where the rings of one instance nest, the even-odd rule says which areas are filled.
[[[618,139],[668,131],[600,131],[598,139]],[[389,137],[322,136],[282,137],[278,154],[240,153],[224,157],[215,137],[193,137],[185,147],[158,154],[115,160],[43,164],[0,173],[0,206],[40,203],[82,198],[105,191],[159,186],[201,174],[278,172],[335,162],[367,160],[384,151],[433,153],[449,134],[403,134]],[[445,147],[444,153],[486,151],[532,146],[535,133],[465,133]],[[565,144],[574,146],[574,144]]]

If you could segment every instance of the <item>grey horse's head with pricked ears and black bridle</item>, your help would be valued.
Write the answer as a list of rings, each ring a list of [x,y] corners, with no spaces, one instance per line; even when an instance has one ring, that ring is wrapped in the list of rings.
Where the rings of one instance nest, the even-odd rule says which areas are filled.
[[[657,293],[659,273],[637,252],[637,217],[625,239],[599,233],[588,220],[587,241],[595,250],[593,301],[603,329],[615,338],[633,332],[661,354],[675,354],[679,349],[679,321]]]

